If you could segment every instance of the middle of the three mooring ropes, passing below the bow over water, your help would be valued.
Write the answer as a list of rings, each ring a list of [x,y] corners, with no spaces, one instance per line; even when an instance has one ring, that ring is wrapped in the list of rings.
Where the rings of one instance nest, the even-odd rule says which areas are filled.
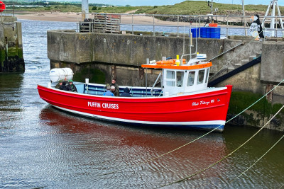
[[[273,117],[272,117],[268,122],[266,122],[265,125],[263,125],[263,127],[261,127],[260,130],[258,130],[258,132],[261,132],[261,130],[263,130],[263,128],[266,127],[266,125],[268,125],[268,123],[271,122],[271,120],[273,120],[273,118],[275,118],[275,116],[278,115],[278,113],[280,113],[280,111],[281,111],[283,108],[284,108],[284,105],[282,106],[282,108],[280,108],[280,110],[278,110],[277,113],[275,113],[275,115],[273,115]],[[168,186],[168,185],[173,185],[173,184],[175,184],[175,183],[180,183],[180,182],[182,182],[182,181],[186,181],[186,180],[188,180],[189,178],[192,178],[192,176],[197,176],[198,174],[203,173],[203,172],[206,171],[207,169],[212,168],[212,166],[215,166],[215,165],[219,164],[221,161],[223,161],[224,159],[227,159],[229,156],[231,156],[231,154],[234,154],[234,152],[236,152],[236,151],[239,150],[241,147],[243,147],[244,144],[246,144],[246,143],[249,142],[253,137],[255,137],[256,134],[258,134],[258,132],[256,132],[255,134],[253,134],[253,136],[250,137],[248,140],[246,140],[246,142],[244,142],[243,144],[241,144],[241,146],[239,146],[238,148],[234,149],[234,151],[232,151],[230,154],[224,156],[222,159],[219,159],[219,161],[216,161],[214,164],[211,164],[211,165],[207,166],[206,168],[203,168],[202,170],[197,171],[197,172],[193,173],[193,174],[190,175],[190,176],[186,176],[185,178],[182,178],[182,179],[180,179],[180,180],[178,180],[178,181],[175,181],[175,182],[173,182],[173,183],[168,183],[168,184],[166,184],[166,185],[160,186],[159,188],[163,188],[163,187]]]

